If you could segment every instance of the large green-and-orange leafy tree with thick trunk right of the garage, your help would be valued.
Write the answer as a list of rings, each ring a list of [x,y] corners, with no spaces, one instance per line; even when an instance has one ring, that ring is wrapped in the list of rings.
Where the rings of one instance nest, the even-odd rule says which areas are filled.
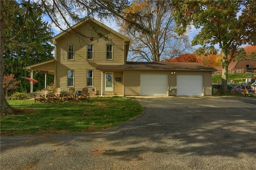
[[[227,93],[228,64],[238,47],[256,42],[256,1],[205,0],[172,1],[180,34],[193,24],[201,29],[192,45],[202,45],[197,52],[215,53],[218,44],[222,53],[222,93]],[[239,14],[239,16],[238,16]],[[229,57],[228,57],[229,56]]]

